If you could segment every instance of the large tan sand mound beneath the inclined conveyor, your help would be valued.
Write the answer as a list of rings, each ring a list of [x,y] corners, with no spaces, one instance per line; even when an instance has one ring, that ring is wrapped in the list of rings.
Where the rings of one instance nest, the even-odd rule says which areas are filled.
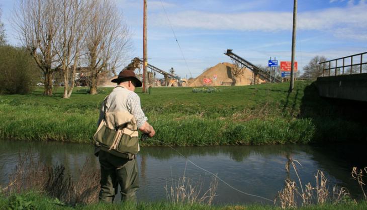
[[[243,86],[243,85],[251,85],[253,84],[253,75],[252,72],[245,68],[243,70],[243,74],[233,77],[232,76],[232,68],[235,65],[232,63],[218,63],[217,65],[210,67],[201,74],[199,77],[195,78],[193,81],[189,83],[190,87],[200,87],[200,86]],[[214,75],[217,76],[217,80],[214,80]],[[206,84],[204,80],[211,83]],[[264,81],[256,79],[256,84],[263,83]]]

